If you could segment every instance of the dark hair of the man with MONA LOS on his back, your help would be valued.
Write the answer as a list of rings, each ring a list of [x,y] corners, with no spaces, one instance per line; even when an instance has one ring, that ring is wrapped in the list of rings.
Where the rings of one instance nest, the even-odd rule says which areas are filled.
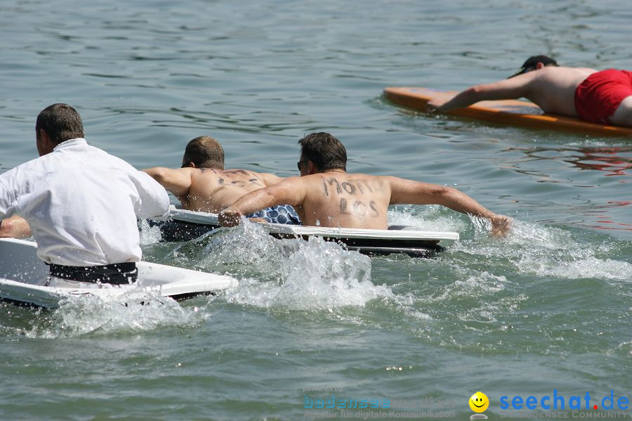
[[[347,171],[347,150],[341,141],[329,133],[312,133],[302,138],[301,156],[314,162],[318,171],[344,169]]]

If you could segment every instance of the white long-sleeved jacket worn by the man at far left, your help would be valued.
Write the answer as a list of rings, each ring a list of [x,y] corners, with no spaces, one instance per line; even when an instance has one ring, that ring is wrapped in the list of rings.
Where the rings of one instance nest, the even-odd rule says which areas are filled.
[[[169,197],[157,181],[84,138],[0,174],[0,220],[26,219],[38,256],[52,264],[140,261],[136,216],[164,219]]]

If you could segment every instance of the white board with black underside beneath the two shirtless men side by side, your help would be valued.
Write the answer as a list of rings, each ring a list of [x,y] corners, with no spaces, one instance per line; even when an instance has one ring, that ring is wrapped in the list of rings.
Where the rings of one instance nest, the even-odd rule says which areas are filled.
[[[183,223],[195,233],[217,228],[217,214],[194,212],[171,205],[172,221]],[[286,224],[262,224],[270,235],[277,238],[309,238],[316,236],[342,242],[349,250],[366,254],[405,253],[411,256],[425,256],[442,250],[442,247],[459,240],[459,234],[451,231],[423,231],[414,226],[393,226],[388,230],[358,228],[324,228]],[[177,231],[177,226],[174,228]],[[195,235],[194,233],[194,235]],[[200,235],[200,234],[198,234]]]

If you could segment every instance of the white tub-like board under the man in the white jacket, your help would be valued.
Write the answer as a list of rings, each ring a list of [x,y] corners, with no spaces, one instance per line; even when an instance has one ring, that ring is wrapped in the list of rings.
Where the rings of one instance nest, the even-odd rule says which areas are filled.
[[[48,266],[37,257],[36,251],[34,242],[0,238],[0,299],[54,309],[68,297],[112,298],[130,292],[152,292],[183,299],[237,285],[237,280],[230,276],[139,261],[138,280],[133,285],[103,289],[44,287],[37,283],[48,275]]]

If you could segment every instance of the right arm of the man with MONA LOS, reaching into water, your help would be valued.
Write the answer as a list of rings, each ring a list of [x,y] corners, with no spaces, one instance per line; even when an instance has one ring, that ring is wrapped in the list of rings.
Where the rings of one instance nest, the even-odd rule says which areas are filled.
[[[492,235],[505,235],[509,230],[510,219],[486,209],[472,197],[456,188],[437,184],[386,177],[390,182],[390,204],[442,205],[450,209],[481,216],[492,221]]]

